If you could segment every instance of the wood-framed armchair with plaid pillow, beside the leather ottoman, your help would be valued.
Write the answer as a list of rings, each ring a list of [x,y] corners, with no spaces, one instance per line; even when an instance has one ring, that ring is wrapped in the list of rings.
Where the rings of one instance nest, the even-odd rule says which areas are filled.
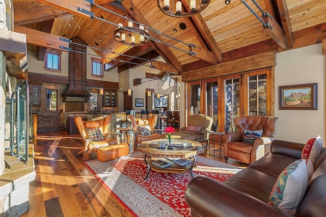
[[[84,121],[78,116],[74,120],[85,142],[84,148],[78,152],[84,153],[83,161],[88,160],[89,154],[97,152],[98,148],[118,143],[117,138],[108,137],[108,134],[111,134],[107,132],[111,125],[111,115],[92,121]]]

